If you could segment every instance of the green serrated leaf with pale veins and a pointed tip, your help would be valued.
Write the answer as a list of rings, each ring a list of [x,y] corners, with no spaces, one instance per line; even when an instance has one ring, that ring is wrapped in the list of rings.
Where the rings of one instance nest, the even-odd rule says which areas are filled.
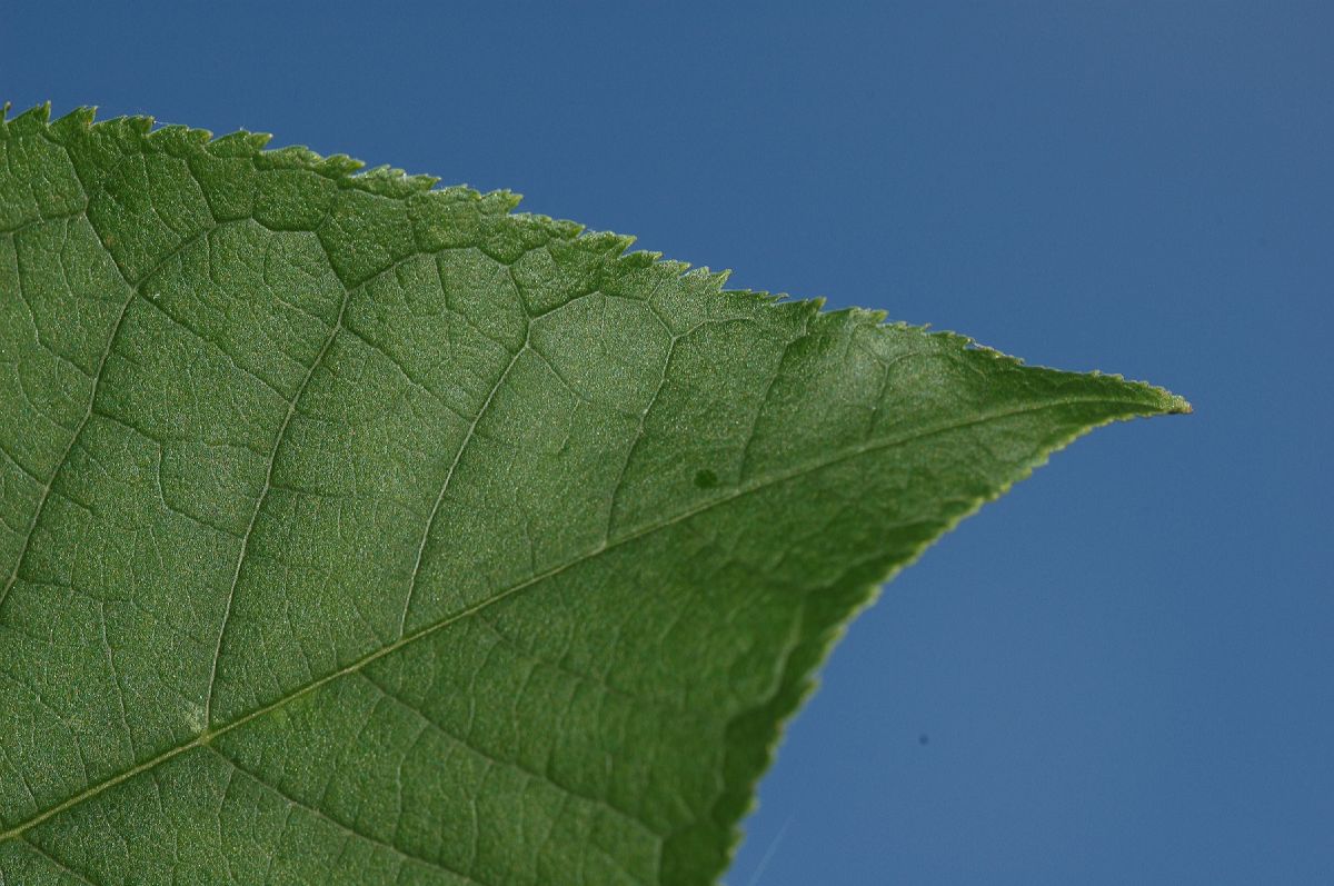
[[[880,582],[1189,408],[265,140],[0,123],[0,882],[712,882]]]

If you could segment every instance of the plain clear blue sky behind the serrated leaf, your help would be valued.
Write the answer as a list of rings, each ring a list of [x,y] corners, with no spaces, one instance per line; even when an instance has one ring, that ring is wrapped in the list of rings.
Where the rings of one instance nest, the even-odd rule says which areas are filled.
[[[1334,4],[11,0],[0,101],[276,133],[1187,396],[888,586],[731,886],[1334,882]]]

